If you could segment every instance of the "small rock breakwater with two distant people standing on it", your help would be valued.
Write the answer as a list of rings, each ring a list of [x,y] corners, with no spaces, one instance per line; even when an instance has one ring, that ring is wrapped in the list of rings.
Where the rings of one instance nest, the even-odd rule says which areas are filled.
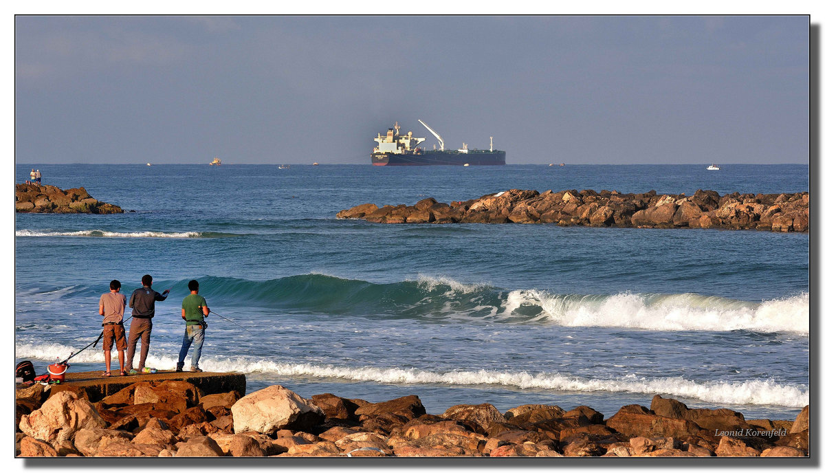
[[[40,184],[16,184],[15,208],[18,212],[41,214],[122,214],[119,206],[101,202],[83,187],[63,190]]]

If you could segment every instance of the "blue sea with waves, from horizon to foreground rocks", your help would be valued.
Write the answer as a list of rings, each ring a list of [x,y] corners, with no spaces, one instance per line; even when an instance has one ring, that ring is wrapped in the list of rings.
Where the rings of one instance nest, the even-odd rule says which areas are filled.
[[[247,392],[418,395],[430,414],[584,404],[606,417],[659,394],[794,419],[810,396],[807,233],[335,218],[512,188],[809,190],[807,165],[721,167],[17,164],[16,182],[39,168],[44,184],[127,212],[16,214],[16,359],[45,372],[91,343],[109,281],[128,297],[148,273],[172,291],[147,365],[175,367],[194,278],[214,311],[200,367],[246,373]],[[102,371],[103,353],[70,363]]]

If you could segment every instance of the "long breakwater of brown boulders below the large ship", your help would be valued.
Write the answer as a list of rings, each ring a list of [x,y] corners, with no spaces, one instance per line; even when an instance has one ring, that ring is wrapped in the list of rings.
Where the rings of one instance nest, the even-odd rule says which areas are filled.
[[[719,196],[623,194],[616,191],[562,192],[511,189],[449,205],[433,198],[413,206],[363,204],[337,213],[339,219],[384,224],[539,224],[637,228],[718,228],[808,231],[808,192]]]

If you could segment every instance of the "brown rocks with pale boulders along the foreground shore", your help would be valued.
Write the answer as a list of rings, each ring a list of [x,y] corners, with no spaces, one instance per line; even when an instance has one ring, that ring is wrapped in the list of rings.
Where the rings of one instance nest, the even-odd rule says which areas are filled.
[[[39,385],[17,393],[17,456],[808,456],[807,406],[795,421],[660,396],[609,419],[544,404],[433,415],[416,395],[307,399],[272,385],[238,398],[186,381],[139,382],[96,403],[71,390],[43,397]]]

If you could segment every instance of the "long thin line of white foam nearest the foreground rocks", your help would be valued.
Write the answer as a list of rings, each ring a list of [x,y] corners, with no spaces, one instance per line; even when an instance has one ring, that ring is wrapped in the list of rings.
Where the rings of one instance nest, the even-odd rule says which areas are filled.
[[[53,361],[64,359],[72,348],[59,344],[16,345],[18,358]],[[103,353],[87,349],[73,358],[73,362],[103,362]],[[114,362],[114,361],[113,361]],[[150,354],[147,366],[169,370],[175,367],[177,355]],[[773,380],[752,381],[691,381],[683,377],[648,379],[629,375],[615,379],[585,379],[558,373],[531,374],[526,371],[494,370],[435,372],[416,368],[338,367],[312,363],[271,362],[245,357],[212,358],[200,360],[205,371],[238,371],[243,373],[273,373],[279,376],[312,376],[347,381],[375,381],[393,384],[443,385],[504,385],[520,389],[542,389],[573,392],[627,392],[649,395],[673,395],[714,404],[766,404],[786,407],[804,407],[809,404],[810,391],[800,385],[782,385]]]

